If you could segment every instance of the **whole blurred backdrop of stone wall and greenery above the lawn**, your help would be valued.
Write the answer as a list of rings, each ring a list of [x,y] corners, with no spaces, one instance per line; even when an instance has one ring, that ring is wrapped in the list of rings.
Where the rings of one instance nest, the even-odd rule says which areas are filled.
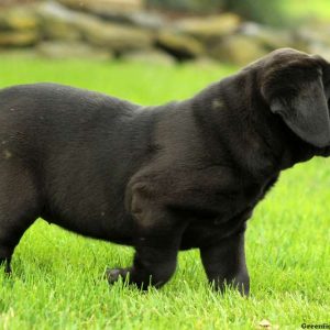
[[[0,0],[0,55],[242,66],[278,47],[330,59],[330,1]]]

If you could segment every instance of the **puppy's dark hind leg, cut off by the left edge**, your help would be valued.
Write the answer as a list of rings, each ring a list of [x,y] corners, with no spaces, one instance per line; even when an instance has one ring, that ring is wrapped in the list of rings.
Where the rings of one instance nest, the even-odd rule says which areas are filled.
[[[10,261],[25,230],[38,216],[38,197],[31,173],[0,160],[0,264],[10,273]]]

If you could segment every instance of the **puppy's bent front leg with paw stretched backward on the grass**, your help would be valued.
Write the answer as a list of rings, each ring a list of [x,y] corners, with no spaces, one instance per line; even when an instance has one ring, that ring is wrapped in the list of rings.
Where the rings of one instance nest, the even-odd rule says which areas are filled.
[[[157,202],[146,185],[136,185],[132,191],[130,210],[136,227],[133,266],[108,270],[107,278],[112,284],[123,277],[142,289],[161,287],[175,272],[185,220]]]

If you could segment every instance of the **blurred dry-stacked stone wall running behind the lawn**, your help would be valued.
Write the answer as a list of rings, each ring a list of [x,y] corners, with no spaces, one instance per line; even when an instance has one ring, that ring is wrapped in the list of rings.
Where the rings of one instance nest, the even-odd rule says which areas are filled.
[[[0,7],[0,53],[245,65],[275,48],[295,47],[330,59],[330,24],[280,31],[233,13],[174,19],[146,11],[143,0],[28,2]]]

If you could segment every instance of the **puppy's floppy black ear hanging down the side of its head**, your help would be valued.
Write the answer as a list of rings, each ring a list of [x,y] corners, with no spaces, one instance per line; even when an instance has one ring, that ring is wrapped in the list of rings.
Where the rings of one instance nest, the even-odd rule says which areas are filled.
[[[330,119],[321,78],[300,84],[295,96],[276,97],[271,110],[304,141],[317,146],[330,145]]]

